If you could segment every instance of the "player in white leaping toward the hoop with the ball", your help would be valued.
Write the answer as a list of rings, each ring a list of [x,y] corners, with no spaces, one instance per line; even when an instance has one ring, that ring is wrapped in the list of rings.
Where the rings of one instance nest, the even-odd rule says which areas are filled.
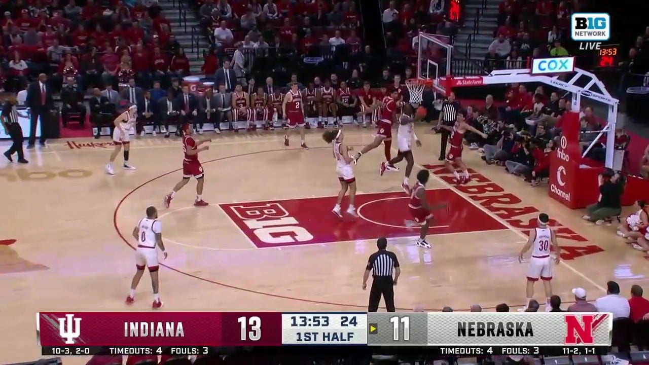
[[[415,140],[417,147],[421,147],[421,142],[415,134],[415,119],[413,118],[413,109],[409,104],[404,105],[403,114],[398,118],[399,127],[397,129],[397,157],[389,160],[388,162],[381,162],[381,172],[386,171],[387,166],[394,166],[406,159],[406,177],[401,184],[404,192],[410,194],[410,173],[413,166],[415,166],[415,158],[412,155],[412,140]],[[383,175],[383,174],[381,174]]]

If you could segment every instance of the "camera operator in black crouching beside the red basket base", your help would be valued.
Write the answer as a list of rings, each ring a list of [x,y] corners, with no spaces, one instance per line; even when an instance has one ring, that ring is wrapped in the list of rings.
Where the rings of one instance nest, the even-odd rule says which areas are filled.
[[[607,168],[598,176],[600,184],[600,197],[597,203],[586,207],[586,214],[583,220],[592,221],[600,225],[607,218],[619,216],[622,213],[622,192],[624,192],[624,181],[620,174]]]

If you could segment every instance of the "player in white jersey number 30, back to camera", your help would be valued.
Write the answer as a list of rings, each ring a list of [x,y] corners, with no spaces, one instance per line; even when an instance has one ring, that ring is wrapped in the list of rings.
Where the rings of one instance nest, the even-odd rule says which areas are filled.
[[[522,262],[523,255],[532,248],[530,268],[528,268],[527,273],[527,302],[525,308],[528,307],[534,296],[534,283],[541,279],[543,281],[543,288],[545,289],[546,312],[551,309],[552,261],[554,260],[555,264],[559,263],[559,244],[557,244],[556,234],[548,227],[549,223],[550,218],[547,214],[539,214],[539,218],[537,218],[538,227],[530,231],[530,234],[528,234],[528,242],[523,246],[519,254],[519,262]],[[554,259],[550,255],[552,248],[554,248],[555,253]]]

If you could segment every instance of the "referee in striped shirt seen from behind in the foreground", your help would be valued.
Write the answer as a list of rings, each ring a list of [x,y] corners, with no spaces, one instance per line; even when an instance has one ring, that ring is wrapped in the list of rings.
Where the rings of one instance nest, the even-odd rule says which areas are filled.
[[[386,238],[379,238],[376,240],[376,247],[378,251],[369,256],[367,260],[367,268],[363,274],[363,290],[367,288],[367,279],[369,274],[372,273],[372,288],[369,290],[369,305],[367,305],[367,312],[376,312],[378,310],[378,302],[381,301],[381,296],[386,302],[386,309],[388,312],[395,312],[395,288],[401,269],[399,268],[399,260],[397,255],[391,251],[387,251]],[[395,272],[393,279],[392,272]]]

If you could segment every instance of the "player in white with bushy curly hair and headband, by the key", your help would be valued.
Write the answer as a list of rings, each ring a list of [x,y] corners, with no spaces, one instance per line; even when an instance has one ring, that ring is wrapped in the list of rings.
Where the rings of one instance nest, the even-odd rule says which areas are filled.
[[[354,199],[356,198],[356,177],[354,177],[354,170],[352,169],[352,161],[354,160],[350,155],[351,147],[343,143],[343,130],[333,129],[323,133],[323,140],[328,144],[332,144],[334,149],[334,158],[336,158],[336,173],[338,181],[340,181],[340,191],[338,192],[338,199],[336,205],[332,209],[332,213],[336,214],[338,218],[343,218],[340,210],[340,205],[343,203],[343,197],[349,190],[349,207],[347,214],[356,217],[356,208],[354,208]]]

